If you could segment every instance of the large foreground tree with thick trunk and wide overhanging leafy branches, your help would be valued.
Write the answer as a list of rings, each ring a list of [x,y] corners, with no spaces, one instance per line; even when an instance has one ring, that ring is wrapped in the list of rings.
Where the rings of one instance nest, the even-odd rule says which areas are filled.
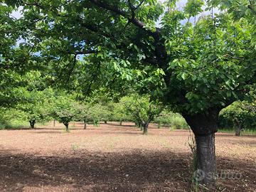
[[[127,80],[130,73],[145,77],[156,72],[161,79],[156,84],[152,82],[157,78],[147,76],[137,85],[154,90],[165,105],[183,114],[196,136],[197,168],[206,174],[201,183],[214,186],[210,175],[216,173],[218,114],[243,100],[255,83],[253,1],[208,0],[206,9],[222,12],[201,16],[193,24],[190,19],[202,12],[203,0],[188,0],[183,11],[176,9],[176,1],[4,2],[23,6],[23,19],[31,24],[23,33],[30,31],[28,40],[39,42],[46,65],[61,61],[71,73],[82,54],[99,66],[108,61]],[[188,22],[183,25],[184,19]]]

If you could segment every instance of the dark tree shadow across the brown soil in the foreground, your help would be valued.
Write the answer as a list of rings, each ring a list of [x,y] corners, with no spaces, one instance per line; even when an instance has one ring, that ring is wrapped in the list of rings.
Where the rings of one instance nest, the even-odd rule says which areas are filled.
[[[190,191],[191,156],[171,151],[33,156],[0,151],[0,191]],[[255,164],[218,159],[219,171],[240,174],[218,181],[221,190],[253,191]],[[237,175],[238,176],[238,175]]]

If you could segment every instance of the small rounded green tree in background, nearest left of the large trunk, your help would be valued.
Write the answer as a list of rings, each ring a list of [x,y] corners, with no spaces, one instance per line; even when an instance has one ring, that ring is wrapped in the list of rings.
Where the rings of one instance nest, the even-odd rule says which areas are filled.
[[[148,133],[149,123],[163,110],[161,102],[151,101],[149,96],[130,95],[122,97],[119,103],[123,106],[122,112],[142,127],[143,134]]]

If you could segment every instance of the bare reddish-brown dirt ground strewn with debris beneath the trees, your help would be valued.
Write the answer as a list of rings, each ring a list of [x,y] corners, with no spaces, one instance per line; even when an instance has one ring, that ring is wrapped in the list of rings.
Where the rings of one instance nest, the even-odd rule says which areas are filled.
[[[70,124],[0,131],[0,191],[191,191],[186,130]],[[256,137],[216,134],[218,191],[256,191]]]

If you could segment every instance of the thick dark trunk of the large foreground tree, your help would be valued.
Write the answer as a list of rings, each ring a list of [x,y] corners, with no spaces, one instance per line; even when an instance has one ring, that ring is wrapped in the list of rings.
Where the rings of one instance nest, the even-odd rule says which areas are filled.
[[[219,110],[202,114],[183,114],[196,137],[196,170],[193,176],[202,185],[214,189],[216,181],[215,132]]]

